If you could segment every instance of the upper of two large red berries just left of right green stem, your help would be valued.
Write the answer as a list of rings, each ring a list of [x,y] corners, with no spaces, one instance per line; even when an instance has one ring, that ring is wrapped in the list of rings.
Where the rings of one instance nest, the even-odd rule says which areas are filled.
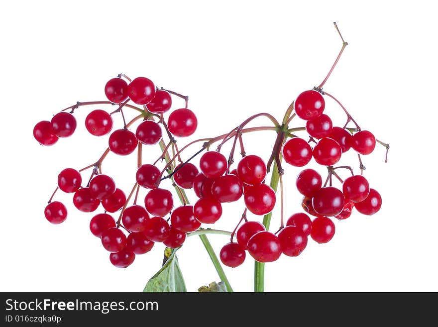
[[[240,159],[236,172],[243,183],[254,185],[264,181],[267,167],[259,156],[248,155]]]

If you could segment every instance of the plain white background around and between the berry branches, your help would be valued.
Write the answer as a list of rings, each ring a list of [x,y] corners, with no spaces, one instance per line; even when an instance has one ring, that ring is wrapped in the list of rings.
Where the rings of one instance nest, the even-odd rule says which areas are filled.
[[[341,46],[332,24],[337,21],[349,45],[325,90],[363,129],[391,145],[387,164],[379,145],[363,157],[364,176],[382,195],[383,206],[371,217],[355,212],[334,221],[336,233],[327,244],[309,239],[299,257],[282,256],[266,264],[265,291],[438,291],[438,26],[433,1],[303,3],[2,1],[0,290],[137,292],[162,260],[164,246],[156,244],[127,269],[113,267],[88,229],[94,214],[76,211],[72,195],[55,197],[66,204],[67,220],[48,223],[43,211],[58,173],[96,161],[108,136],[86,133],[84,118],[91,110],[86,107],[75,112],[76,133],[51,147],[33,139],[36,122],[50,120],[76,101],[106,100],[105,83],[119,73],[146,76],[189,95],[199,128],[193,137],[179,139],[180,145],[226,133],[254,113],[270,112],[280,120],[296,96],[318,85],[329,71]],[[173,109],[183,105],[174,98]],[[326,108],[336,125],[344,123],[333,101],[328,99]],[[115,123],[120,126],[120,117]],[[251,126],[267,124],[259,118]],[[298,118],[291,124],[302,125]],[[243,139],[247,153],[267,159],[275,133]],[[198,149],[194,146],[184,157]],[[143,160],[152,162],[158,155],[155,147],[144,148]],[[352,152],[341,163],[358,173]],[[128,193],[135,165],[135,153],[110,154],[103,170]],[[324,167],[317,169],[326,174]],[[294,186],[299,171],[285,165],[286,218],[300,211]],[[87,171],[83,178],[88,176]],[[144,195],[142,190],[140,199]],[[189,197],[194,203],[193,194]],[[223,207],[217,227],[232,230],[243,202]],[[272,229],[278,228],[279,215],[277,206]],[[209,238],[218,254],[228,242],[223,235]],[[187,239],[178,257],[189,291],[219,280],[197,236]],[[225,272],[235,291],[252,291],[249,256]]]

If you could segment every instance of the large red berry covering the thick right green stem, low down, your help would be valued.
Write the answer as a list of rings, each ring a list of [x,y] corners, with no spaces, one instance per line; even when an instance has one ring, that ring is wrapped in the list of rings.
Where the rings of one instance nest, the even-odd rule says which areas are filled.
[[[277,236],[269,231],[259,231],[248,240],[248,252],[258,262],[272,262],[281,255]]]

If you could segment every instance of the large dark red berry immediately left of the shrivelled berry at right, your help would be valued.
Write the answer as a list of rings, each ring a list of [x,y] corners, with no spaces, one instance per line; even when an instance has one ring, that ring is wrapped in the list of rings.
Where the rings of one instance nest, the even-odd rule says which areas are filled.
[[[312,206],[320,216],[336,216],[345,204],[344,195],[335,187],[322,187],[312,198]]]

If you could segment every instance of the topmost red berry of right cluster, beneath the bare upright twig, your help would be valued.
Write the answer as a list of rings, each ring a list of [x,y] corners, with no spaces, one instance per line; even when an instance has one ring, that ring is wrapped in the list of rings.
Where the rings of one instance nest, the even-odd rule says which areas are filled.
[[[308,90],[301,93],[295,100],[295,112],[302,119],[309,120],[319,117],[326,106],[321,93]]]

